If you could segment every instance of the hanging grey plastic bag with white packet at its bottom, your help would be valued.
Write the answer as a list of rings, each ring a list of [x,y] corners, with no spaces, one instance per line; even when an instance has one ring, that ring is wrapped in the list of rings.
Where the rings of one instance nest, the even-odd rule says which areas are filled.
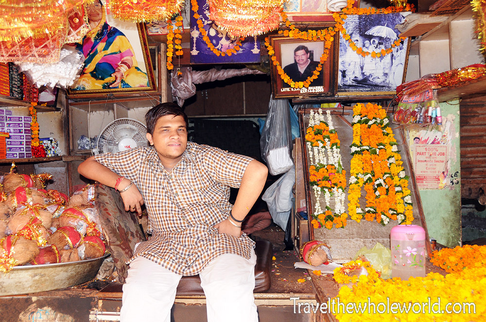
[[[260,137],[260,151],[272,176],[285,173],[294,166],[290,111],[286,99],[270,97],[267,119]]]

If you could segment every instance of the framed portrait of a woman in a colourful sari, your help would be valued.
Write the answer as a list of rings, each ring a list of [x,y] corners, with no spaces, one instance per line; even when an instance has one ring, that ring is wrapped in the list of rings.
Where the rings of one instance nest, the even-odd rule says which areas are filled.
[[[73,44],[85,58],[69,97],[155,92],[156,81],[145,28],[141,23],[114,19],[105,0],[86,5],[90,30]]]

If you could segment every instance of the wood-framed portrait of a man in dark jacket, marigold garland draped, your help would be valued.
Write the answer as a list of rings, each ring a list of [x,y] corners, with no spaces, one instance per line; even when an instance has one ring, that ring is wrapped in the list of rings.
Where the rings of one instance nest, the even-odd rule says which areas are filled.
[[[271,46],[275,50],[276,64],[270,62],[272,93],[279,97],[315,97],[330,96],[334,93],[333,60],[335,41],[329,52],[322,40],[309,41],[283,35],[270,36]],[[327,59],[321,64],[321,57]],[[314,71],[319,70],[317,78],[308,87],[292,87],[290,83],[310,81]],[[287,80],[287,81],[284,81]]]

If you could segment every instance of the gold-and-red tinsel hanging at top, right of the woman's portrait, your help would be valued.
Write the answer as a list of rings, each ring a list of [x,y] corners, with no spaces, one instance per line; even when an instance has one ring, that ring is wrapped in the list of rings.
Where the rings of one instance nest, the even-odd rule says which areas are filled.
[[[110,0],[114,18],[130,22],[166,20],[178,13],[184,0]]]

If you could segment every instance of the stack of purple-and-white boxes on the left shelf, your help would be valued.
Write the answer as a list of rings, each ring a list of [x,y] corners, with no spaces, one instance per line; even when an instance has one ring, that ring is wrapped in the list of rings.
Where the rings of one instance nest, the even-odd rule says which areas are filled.
[[[5,113],[7,111],[5,110]],[[12,113],[11,111],[10,114]],[[0,112],[1,113],[1,112]],[[32,116],[5,115],[6,131],[10,137],[6,139],[6,158],[32,158],[31,122]],[[1,115],[0,115],[1,119]],[[0,124],[1,125],[1,124]]]

